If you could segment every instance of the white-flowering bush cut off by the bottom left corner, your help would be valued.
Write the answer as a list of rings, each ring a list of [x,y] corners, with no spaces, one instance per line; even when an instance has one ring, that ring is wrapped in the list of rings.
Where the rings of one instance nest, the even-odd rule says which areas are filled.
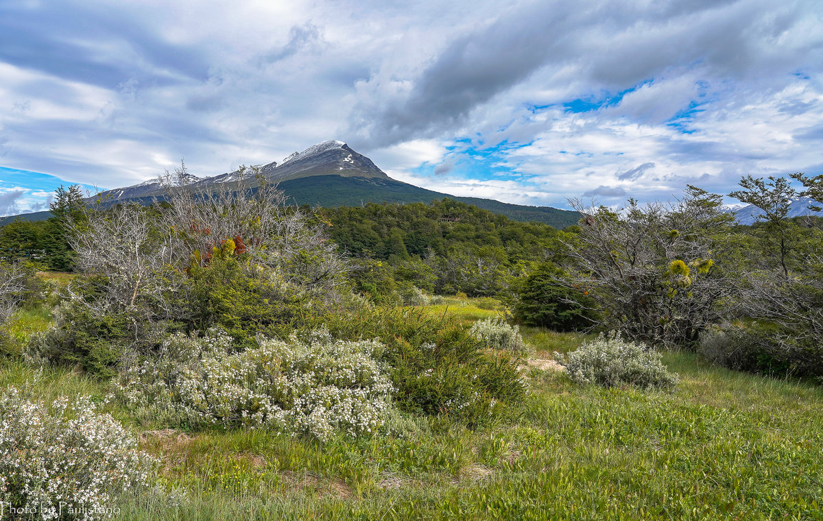
[[[67,417],[66,413],[69,413]],[[145,486],[153,460],[88,398],[52,410],[16,388],[0,393],[0,519],[101,519]]]

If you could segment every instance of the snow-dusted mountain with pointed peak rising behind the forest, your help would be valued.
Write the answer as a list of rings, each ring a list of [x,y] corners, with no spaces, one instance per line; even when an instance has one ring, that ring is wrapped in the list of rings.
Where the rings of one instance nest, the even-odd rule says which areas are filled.
[[[500,213],[514,221],[537,221],[565,228],[577,224],[579,220],[579,213],[569,210],[509,204],[493,199],[456,197],[402,183],[388,177],[372,160],[351,150],[342,141],[318,143],[305,151],[294,152],[279,165],[272,161],[259,168],[267,180],[277,183],[291,202],[298,205],[339,207],[357,206],[366,202],[428,203],[436,199],[452,198]],[[238,179],[239,172],[235,171],[206,178],[189,175],[186,181],[193,187],[224,191],[231,190]],[[133,186],[106,190],[95,198],[103,198],[107,202],[132,201],[147,204],[155,199],[162,199],[163,195],[160,178],[157,178]],[[16,217],[40,221],[49,216],[49,212],[11,216],[0,219],[0,225]]]

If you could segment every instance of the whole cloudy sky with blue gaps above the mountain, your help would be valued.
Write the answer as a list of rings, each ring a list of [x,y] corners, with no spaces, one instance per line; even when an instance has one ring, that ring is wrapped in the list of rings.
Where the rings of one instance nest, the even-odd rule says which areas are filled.
[[[819,0],[0,2],[0,215],[327,139],[505,202],[728,193],[823,171],[821,68]]]

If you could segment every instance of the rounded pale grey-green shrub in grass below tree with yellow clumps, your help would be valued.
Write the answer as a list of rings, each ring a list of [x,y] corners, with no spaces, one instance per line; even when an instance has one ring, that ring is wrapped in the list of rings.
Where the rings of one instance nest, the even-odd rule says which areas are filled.
[[[678,381],[677,375],[660,361],[658,351],[625,341],[616,332],[608,336],[601,333],[593,342],[584,342],[577,351],[569,353],[565,366],[578,384],[672,388]]]

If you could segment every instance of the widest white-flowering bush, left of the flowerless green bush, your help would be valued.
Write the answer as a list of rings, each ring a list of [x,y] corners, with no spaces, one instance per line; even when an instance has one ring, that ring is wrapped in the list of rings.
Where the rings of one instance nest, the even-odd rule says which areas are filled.
[[[121,377],[117,394],[142,419],[189,426],[267,427],[319,440],[383,426],[393,388],[374,360],[380,342],[336,341],[319,330],[305,340],[258,343],[233,353],[220,331],[174,335],[159,358]]]

